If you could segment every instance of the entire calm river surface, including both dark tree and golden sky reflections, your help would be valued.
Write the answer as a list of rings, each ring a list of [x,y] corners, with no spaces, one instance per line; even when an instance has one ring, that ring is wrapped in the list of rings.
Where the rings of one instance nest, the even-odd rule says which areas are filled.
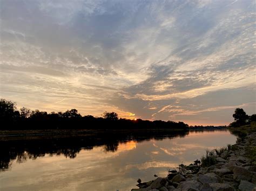
[[[104,134],[2,142],[0,190],[131,190],[138,178],[165,176],[167,168],[236,139],[228,131]]]

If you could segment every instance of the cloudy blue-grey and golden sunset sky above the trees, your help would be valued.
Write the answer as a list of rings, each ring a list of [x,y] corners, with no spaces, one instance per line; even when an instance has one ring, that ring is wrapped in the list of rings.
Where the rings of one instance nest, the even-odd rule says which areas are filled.
[[[228,125],[255,113],[255,2],[0,0],[0,97]]]

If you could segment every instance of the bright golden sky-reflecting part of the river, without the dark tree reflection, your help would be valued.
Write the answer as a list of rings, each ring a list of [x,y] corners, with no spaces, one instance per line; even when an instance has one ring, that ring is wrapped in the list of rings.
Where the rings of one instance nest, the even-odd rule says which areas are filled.
[[[206,149],[235,140],[229,131],[190,132],[162,140],[127,140],[110,150],[104,145],[82,148],[72,157],[57,151],[33,157],[24,151],[0,171],[0,190],[131,190],[138,178],[166,176],[167,168],[190,164]]]

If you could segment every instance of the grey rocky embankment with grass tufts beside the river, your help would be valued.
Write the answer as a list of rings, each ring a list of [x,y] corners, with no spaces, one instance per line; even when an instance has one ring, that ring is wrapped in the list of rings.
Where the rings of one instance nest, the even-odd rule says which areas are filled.
[[[132,191],[255,191],[256,161],[250,157],[250,152],[255,152],[255,148],[256,132],[252,132],[243,139],[238,138],[237,144],[215,153],[214,165],[203,167],[191,164],[186,167],[194,171],[171,171],[166,178],[159,177],[143,183],[139,179],[139,188]]]

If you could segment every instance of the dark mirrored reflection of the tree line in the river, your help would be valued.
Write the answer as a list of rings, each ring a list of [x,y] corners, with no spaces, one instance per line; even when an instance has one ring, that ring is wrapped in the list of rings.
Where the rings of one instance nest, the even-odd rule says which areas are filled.
[[[165,134],[166,133],[166,134]],[[122,149],[122,143],[131,141],[141,142],[143,140],[163,140],[165,138],[184,137],[188,135],[187,130],[166,132],[130,132],[129,135],[122,131],[97,132],[90,136],[48,139],[23,139],[0,141],[0,169],[2,171],[10,168],[12,160],[18,163],[28,159],[44,157],[45,154],[64,155],[66,158],[76,158],[83,150],[92,150],[95,146],[104,146],[103,152],[116,152]],[[121,147],[120,147],[121,146]],[[134,145],[133,145],[134,146]]]

